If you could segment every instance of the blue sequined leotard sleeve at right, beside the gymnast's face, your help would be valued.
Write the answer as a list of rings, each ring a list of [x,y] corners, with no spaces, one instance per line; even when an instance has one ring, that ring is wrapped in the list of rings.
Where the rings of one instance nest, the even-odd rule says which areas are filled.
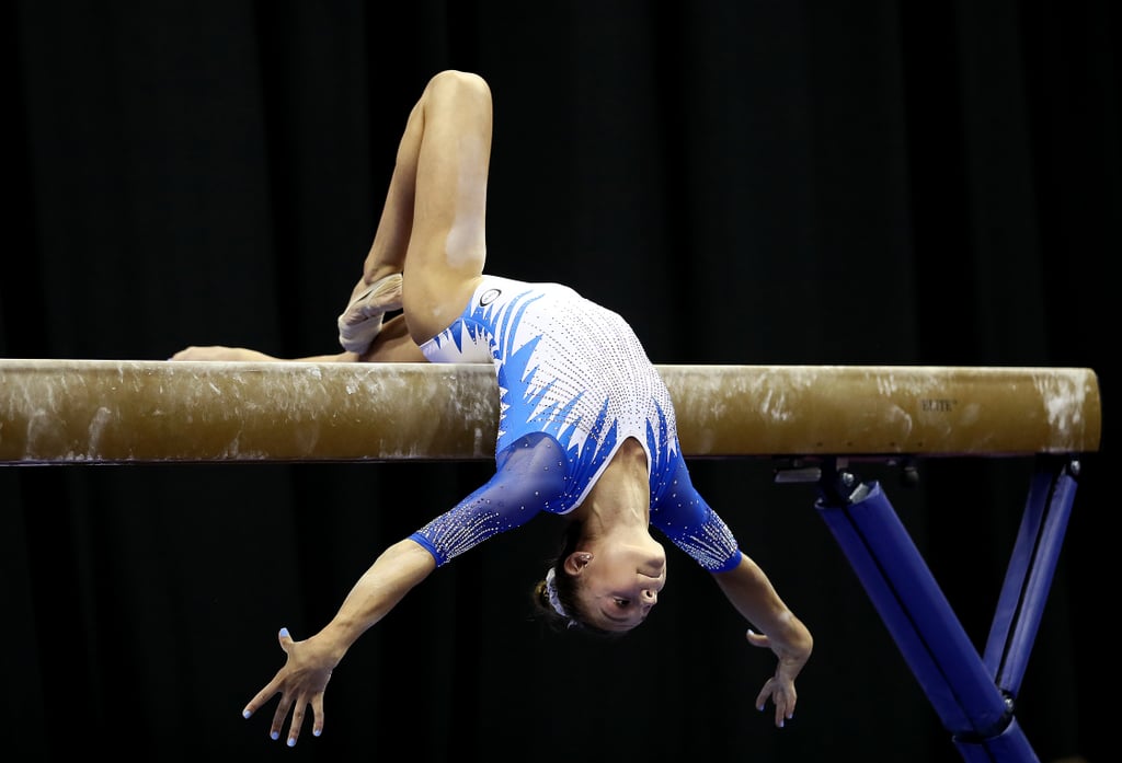
[[[710,573],[724,573],[741,561],[741,548],[716,511],[693,487],[679,457],[672,476],[651,504],[651,524]]]

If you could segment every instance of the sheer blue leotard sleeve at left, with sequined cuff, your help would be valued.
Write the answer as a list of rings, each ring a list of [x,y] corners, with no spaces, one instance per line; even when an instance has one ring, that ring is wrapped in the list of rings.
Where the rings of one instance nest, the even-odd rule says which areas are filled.
[[[487,484],[410,536],[445,565],[560,502],[568,460],[557,440],[528,435],[503,452]]]

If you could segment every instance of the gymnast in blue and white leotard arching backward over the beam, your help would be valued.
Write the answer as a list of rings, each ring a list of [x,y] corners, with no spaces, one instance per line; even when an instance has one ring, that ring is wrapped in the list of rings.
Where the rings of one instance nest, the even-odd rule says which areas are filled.
[[[495,475],[389,546],[318,633],[279,633],[284,666],[246,705],[275,695],[270,735],[296,744],[307,706],[324,724],[324,690],[359,636],[434,569],[539,512],[569,521],[534,589],[562,630],[617,638],[646,618],[666,581],[654,525],[692,557],[776,658],[756,707],[792,717],[812,638],[729,528],[698,494],[670,394],[617,314],[558,283],[484,273],[491,99],[475,74],[447,71],[408,115],[362,277],[338,318],[343,352],[300,359],[493,363],[502,396]],[[387,317],[388,314],[388,317]],[[173,360],[280,360],[242,347],[192,346]],[[753,630],[755,629],[755,630]]]

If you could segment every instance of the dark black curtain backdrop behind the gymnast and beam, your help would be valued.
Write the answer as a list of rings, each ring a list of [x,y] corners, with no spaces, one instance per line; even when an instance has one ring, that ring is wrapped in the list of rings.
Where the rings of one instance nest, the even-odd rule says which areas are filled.
[[[0,354],[334,352],[405,117],[452,67],[495,97],[489,270],[617,309],[655,362],[1087,366],[1110,413],[1118,8],[4,3]],[[1104,428],[1017,706],[1042,761],[1116,753]],[[544,632],[543,518],[368,632],[294,750],[272,705],[240,716],[277,629],[315,632],[489,464],[0,468],[0,757],[960,760],[812,486],[773,466],[693,471],[817,638],[788,728],[753,708],[771,655],[677,549],[623,642]],[[980,648],[1030,469],[861,473]]]

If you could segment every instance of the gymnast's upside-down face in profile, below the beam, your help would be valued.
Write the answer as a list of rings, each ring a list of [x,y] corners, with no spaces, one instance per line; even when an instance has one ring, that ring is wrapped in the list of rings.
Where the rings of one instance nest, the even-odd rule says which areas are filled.
[[[659,603],[666,585],[666,552],[653,538],[643,545],[604,543],[571,553],[565,570],[580,577],[578,597],[592,625],[629,631]]]

